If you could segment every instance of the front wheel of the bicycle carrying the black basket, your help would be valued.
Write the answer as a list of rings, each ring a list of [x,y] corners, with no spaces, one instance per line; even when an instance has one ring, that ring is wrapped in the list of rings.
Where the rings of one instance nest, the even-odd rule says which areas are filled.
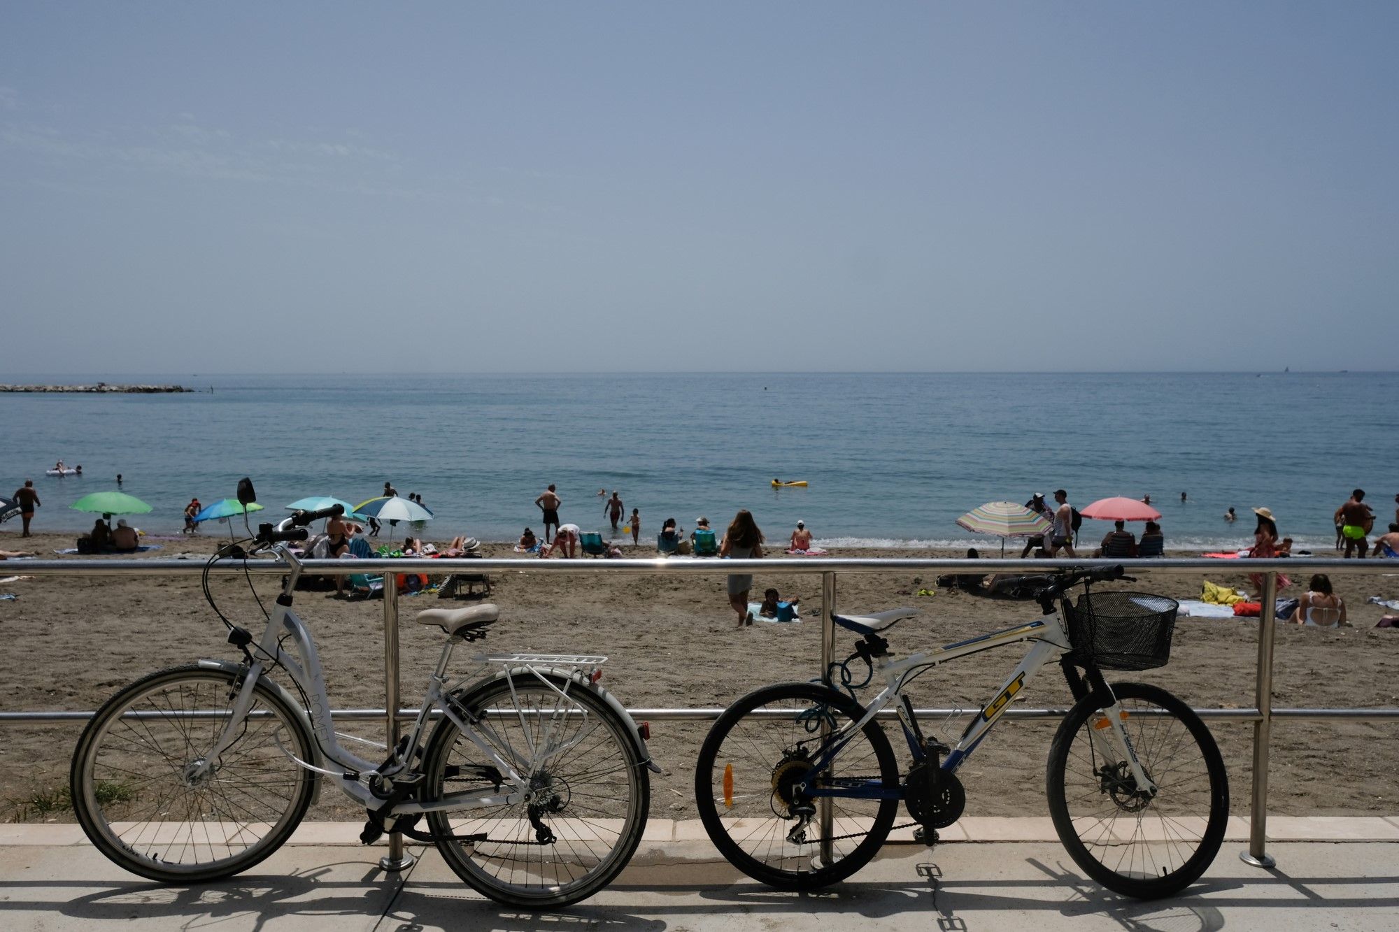
[[[1157,795],[1133,796],[1125,754],[1115,753],[1109,763],[1104,742],[1093,740],[1095,719],[1104,719],[1101,702],[1088,696],[1069,711],[1049,746],[1049,814],[1090,877],[1115,893],[1154,900],[1195,883],[1219,854],[1228,774],[1209,728],[1182,700],[1146,683],[1114,683],[1112,693]]]

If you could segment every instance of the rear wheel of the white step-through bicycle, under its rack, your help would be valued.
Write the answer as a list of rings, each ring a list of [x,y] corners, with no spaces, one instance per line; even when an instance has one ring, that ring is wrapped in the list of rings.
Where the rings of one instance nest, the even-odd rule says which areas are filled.
[[[459,705],[469,712],[463,718],[480,719],[474,730],[504,760],[512,754],[532,760],[530,747],[551,740],[543,714],[571,714],[562,721],[565,730],[554,733],[553,740],[578,743],[532,779],[546,793],[547,812],[537,814],[555,841],[537,844],[526,803],[428,813],[448,866],[478,893],[522,908],[578,903],[607,886],[637,851],[651,809],[651,774],[627,721],[585,682],[551,682],[568,690],[567,700],[534,676],[515,676],[481,684],[462,697]],[[492,708],[505,715],[487,714]],[[530,726],[518,711],[541,715]],[[443,716],[424,754],[424,799],[439,799],[445,791],[491,786],[488,775],[464,772],[488,763],[470,737]],[[455,774],[449,774],[449,767],[456,768]],[[464,842],[442,837],[477,833],[485,833],[488,840]]]

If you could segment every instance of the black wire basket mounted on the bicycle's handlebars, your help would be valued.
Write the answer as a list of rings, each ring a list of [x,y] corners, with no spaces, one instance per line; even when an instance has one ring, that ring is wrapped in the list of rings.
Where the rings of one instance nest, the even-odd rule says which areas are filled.
[[[1175,599],[1146,592],[1086,592],[1065,603],[1073,649],[1104,670],[1150,670],[1171,661]]]

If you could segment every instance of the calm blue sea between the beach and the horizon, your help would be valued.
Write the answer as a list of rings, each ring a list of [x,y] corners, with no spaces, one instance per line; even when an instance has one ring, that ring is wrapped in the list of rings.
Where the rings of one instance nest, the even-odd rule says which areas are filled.
[[[564,521],[606,525],[599,488],[667,516],[725,523],[750,508],[772,540],[804,519],[827,544],[975,539],[954,521],[990,500],[1065,487],[1079,507],[1150,494],[1168,546],[1251,537],[1249,507],[1284,535],[1333,539],[1356,486],[1382,523],[1399,493],[1399,374],[341,375],[4,376],[24,382],[179,382],[197,395],[0,395],[0,493],[35,479],[38,526],[78,529],[80,495],[123,490],[155,511],[231,497],[252,476],[269,511],[311,494],[351,502],[392,480],[436,512],[429,539],[540,530],[558,484]],[[52,479],[55,459],[84,479]],[[804,490],[768,487],[806,479]],[[1189,501],[1181,504],[1181,491]],[[1220,515],[1234,505],[1230,528]],[[1086,533],[1105,530],[1086,522]],[[14,525],[8,523],[7,530]],[[208,532],[224,529],[210,526]],[[402,530],[399,532],[402,536]]]

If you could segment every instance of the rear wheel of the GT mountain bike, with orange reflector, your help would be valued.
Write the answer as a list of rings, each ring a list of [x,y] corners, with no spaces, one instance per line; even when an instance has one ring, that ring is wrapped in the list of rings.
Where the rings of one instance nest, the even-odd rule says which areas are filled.
[[[755,715],[775,708],[776,716]],[[803,744],[818,739],[810,723],[830,709],[834,726],[865,716],[859,702],[816,683],[779,683],[748,693],[730,705],[713,723],[700,747],[695,761],[695,805],[709,840],[739,870],[772,887],[811,890],[851,876],[879,852],[898,814],[897,799],[832,798],[832,861],[817,863],[820,840],[788,838],[793,821],[783,786],[802,778]],[[771,735],[771,737],[764,737]],[[873,719],[860,729],[867,746],[858,747],[859,736],[837,753],[825,777],[877,777],[883,785],[898,785],[898,764],[884,729]],[[733,740],[730,742],[730,736]],[[729,770],[736,767],[736,770]],[[870,772],[874,771],[874,772]],[[739,793],[730,782],[725,793],[725,774],[747,775],[754,792]],[[810,768],[807,768],[810,772]],[[716,792],[732,800],[720,814]],[[817,824],[816,821],[811,823]],[[817,835],[818,835],[817,830]],[[741,834],[737,834],[741,833]]]

